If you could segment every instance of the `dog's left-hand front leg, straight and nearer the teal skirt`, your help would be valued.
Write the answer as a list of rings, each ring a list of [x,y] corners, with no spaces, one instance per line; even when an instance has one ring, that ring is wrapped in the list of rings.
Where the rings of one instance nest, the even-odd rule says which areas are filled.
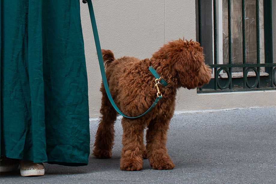
[[[140,121],[139,121],[140,120]],[[121,170],[134,171],[143,167],[144,123],[141,119],[123,117],[123,149],[121,153]]]

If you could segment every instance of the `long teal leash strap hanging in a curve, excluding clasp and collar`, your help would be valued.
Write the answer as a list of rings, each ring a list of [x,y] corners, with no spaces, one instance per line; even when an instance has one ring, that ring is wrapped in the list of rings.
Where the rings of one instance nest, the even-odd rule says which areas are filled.
[[[116,106],[111,93],[109,91],[108,88],[108,83],[107,83],[107,78],[105,75],[105,66],[104,66],[104,61],[102,59],[102,50],[101,50],[101,45],[100,45],[100,39],[99,39],[99,34],[98,34],[98,29],[97,29],[97,25],[96,25],[96,19],[95,19],[95,14],[94,14],[94,10],[93,10],[93,5],[91,0],[87,0],[87,4],[88,4],[88,9],[89,9],[89,14],[90,14],[90,19],[91,19],[91,24],[92,24],[92,30],[93,30],[93,35],[94,35],[94,40],[95,40],[95,44],[96,44],[96,50],[97,50],[97,54],[98,54],[98,59],[99,59],[99,64],[100,64],[100,69],[101,69],[101,74],[102,74],[102,80],[105,86],[105,91],[106,94],[108,95],[109,101],[111,102],[112,106],[114,107],[114,109],[121,114],[122,116],[126,117],[126,118],[138,118],[141,116],[144,116],[145,114],[147,114],[153,107],[156,106],[156,104],[158,103],[159,100],[162,99],[162,96],[157,95],[156,100],[154,101],[154,103],[152,104],[152,106],[143,114],[141,114],[140,116],[136,116],[136,117],[129,117],[126,116],[125,114],[123,114],[120,109]],[[157,85],[157,84],[156,84]]]

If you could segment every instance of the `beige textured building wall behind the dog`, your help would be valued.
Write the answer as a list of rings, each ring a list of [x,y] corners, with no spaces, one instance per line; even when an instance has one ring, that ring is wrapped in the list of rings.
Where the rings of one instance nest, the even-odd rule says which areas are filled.
[[[196,40],[195,3],[190,0],[93,1],[103,49],[116,58],[148,58],[164,43],[178,38]],[[101,74],[87,4],[81,3],[81,18],[89,83],[90,118],[98,118],[101,105]],[[276,91],[197,94],[177,92],[176,111],[228,109],[276,105]]]

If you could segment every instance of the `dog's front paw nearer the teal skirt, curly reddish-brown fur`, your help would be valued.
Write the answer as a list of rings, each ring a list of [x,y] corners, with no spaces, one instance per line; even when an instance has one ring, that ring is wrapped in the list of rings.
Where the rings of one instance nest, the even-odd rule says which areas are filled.
[[[121,158],[120,169],[126,171],[141,170],[143,164],[144,162],[142,159]]]

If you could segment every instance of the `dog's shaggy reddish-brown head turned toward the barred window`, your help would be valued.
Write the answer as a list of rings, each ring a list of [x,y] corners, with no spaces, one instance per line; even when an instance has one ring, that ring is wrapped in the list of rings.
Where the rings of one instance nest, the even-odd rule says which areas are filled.
[[[177,87],[194,89],[209,83],[211,69],[205,65],[202,47],[195,41],[179,39],[161,47],[153,58],[171,68],[172,76],[177,77]]]

